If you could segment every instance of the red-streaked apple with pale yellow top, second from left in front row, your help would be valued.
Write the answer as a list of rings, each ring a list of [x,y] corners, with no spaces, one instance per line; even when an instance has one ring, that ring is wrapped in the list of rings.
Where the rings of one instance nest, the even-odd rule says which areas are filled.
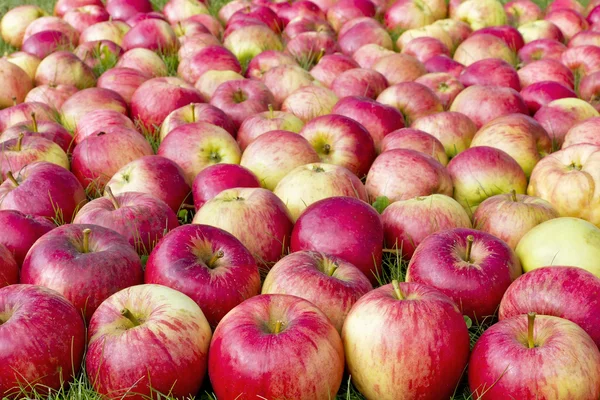
[[[121,311],[142,322],[136,326]],[[107,398],[135,393],[194,395],[206,374],[211,331],[188,296],[161,285],[138,285],[104,301],[88,327],[86,372],[94,390]],[[131,341],[148,347],[131,346]],[[186,343],[182,347],[181,343]]]

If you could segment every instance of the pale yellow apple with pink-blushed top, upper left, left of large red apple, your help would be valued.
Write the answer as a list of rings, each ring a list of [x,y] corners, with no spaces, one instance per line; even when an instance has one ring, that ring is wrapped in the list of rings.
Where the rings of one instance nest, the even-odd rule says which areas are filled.
[[[60,108],[63,125],[74,131],[79,121],[95,110],[113,110],[127,115],[127,103],[109,89],[89,88],[69,97]]]

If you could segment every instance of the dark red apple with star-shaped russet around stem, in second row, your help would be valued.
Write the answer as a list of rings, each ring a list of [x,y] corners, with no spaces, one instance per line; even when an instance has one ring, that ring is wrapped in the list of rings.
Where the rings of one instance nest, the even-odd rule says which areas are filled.
[[[252,254],[233,235],[208,225],[169,232],[150,254],[144,281],[188,295],[213,327],[238,304],[258,295],[261,286]]]

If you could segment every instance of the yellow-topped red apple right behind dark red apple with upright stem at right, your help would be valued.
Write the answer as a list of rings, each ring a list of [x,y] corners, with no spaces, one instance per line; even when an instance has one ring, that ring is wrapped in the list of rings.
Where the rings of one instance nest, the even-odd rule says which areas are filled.
[[[410,260],[429,235],[453,228],[471,228],[471,219],[452,197],[443,194],[395,201],[381,214],[385,243]]]

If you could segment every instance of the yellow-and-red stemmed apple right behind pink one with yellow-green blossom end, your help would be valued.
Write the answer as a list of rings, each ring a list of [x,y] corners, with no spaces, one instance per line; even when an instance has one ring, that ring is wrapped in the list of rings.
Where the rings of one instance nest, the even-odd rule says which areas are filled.
[[[175,128],[195,122],[207,122],[216,125],[225,129],[231,136],[235,137],[235,126],[227,114],[210,104],[190,103],[173,110],[167,118],[165,118],[160,127],[161,141]]]

